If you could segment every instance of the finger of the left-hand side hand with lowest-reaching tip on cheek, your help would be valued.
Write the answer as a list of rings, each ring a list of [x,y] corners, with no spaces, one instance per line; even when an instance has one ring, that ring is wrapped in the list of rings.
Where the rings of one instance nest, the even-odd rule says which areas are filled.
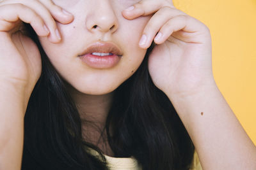
[[[8,0],[8,1],[3,1],[3,4],[15,4],[16,2],[20,2],[18,0]],[[52,18],[51,13],[49,12],[49,10],[47,10],[47,8],[45,8],[45,6],[40,3],[39,1],[21,1],[25,6],[28,6],[28,8],[33,9],[34,11],[36,11],[37,15],[39,15],[42,20],[44,20],[45,25],[47,26],[47,28],[50,31],[50,34],[48,36],[49,40],[52,43],[58,43],[61,40],[61,36],[60,36],[60,32],[57,29],[56,26],[56,22],[54,20],[54,18]],[[1,3],[2,4],[2,3]]]

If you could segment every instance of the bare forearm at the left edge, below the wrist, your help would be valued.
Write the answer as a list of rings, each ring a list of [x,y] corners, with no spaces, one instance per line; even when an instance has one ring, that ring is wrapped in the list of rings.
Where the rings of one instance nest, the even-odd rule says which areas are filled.
[[[26,104],[22,93],[9,85],[1,85],[0,92],[0,169],[17,170],[22,160]]]

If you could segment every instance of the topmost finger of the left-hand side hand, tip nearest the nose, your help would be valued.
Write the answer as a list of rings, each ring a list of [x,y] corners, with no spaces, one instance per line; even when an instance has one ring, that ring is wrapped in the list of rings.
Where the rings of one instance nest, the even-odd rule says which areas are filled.
[[[74,16],[67,10],[52,3],[52,0],[39,0],[50,11],[52,17],[61,24],[68,24],[74,20]]]

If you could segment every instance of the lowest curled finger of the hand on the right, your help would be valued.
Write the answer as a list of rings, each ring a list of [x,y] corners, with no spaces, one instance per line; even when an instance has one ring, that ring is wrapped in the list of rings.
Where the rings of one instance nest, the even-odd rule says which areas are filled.
[[[179,38],[186,43],[201,43],[198,36],[196,36],[195,40],[193,39],[195,36],[191,36],[191,34],[198,34],[198,32],[202,32],[204,29],[206,30],[207,27],[195,18],[188,15],[177,15],[161,27],[156,38],[154,38],[154,42],[156,44],[164,43],[172,34],[179,31],[175,34],[175,38]]]

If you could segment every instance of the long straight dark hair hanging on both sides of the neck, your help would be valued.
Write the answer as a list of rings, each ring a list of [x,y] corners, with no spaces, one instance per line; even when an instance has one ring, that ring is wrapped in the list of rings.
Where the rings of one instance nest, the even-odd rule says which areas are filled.
[[[42,74],[24,118],[22,169],[108,169],[100,148],[82,138],[81,118],[65,81],[35,31],[29,24],[26,28],[40,49]],[[153,46],[138,70],[115,90],[105,126],[109,145],[115,157],[133,156],[142,169],[188,170],[195,146],[172,103],[150,78],[148,54]],[[99,152],[102,160],[86,148]]]

